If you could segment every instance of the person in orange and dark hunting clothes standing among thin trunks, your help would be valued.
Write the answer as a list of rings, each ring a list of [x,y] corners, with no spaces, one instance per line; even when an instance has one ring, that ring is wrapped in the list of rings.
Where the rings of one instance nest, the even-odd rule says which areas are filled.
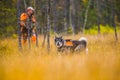
[[[26,12],[22,13],[20,15],[20,31],[21,31],[21,37],[22,37],[22,43],[25,44],[27,42],[28,38],[28,27],[30,28],[30,38],[33,42],[36,41],[36,18],[34,16],[34,8],[28,7],[26,9]],[[30,23],[31,25],[29,25]]]

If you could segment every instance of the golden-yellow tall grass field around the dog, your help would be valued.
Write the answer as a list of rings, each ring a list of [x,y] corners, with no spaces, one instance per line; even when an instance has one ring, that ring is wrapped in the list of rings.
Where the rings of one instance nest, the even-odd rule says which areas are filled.
[[[84,36],[88,54],[58,55],[53,36],[49,54],[41,36],[38,48],[25,45],[22,51],[17,39],[0,40],[0,80],[120,80],[120,40],[114,34]]]

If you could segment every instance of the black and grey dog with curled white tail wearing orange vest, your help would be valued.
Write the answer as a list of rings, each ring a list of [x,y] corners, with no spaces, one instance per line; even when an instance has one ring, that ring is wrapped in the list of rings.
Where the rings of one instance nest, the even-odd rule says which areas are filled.
[[[54,38],[55,46],[58,52],[70,51],[70,52],[81,52],[83,50],[88,51],[87,39],[81,37],[79,40],[63,39],[62,36]]]

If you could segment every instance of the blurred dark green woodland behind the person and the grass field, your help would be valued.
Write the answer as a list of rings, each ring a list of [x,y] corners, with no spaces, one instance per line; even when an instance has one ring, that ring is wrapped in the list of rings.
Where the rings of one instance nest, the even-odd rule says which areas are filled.
[[[18,32],[18,16],[26,6],[35,9],[37,28],[43,34],[47,24],[47,4],[50,4],[50,30],[55,33],[84,33],[100,25],[120,26],[120,0],[0,0],[0,37]],[[19,8],[17,8],[19,5]],[[20,14],[18,14],[20,11]]]

